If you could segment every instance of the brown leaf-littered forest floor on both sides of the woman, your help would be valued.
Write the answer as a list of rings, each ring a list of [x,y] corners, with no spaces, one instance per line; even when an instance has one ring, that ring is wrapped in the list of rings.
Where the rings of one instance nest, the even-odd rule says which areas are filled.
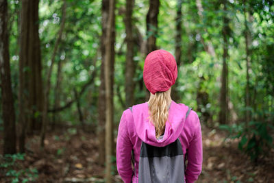
[[[238,150],[237,141],[224,141],[225,132],[203,126],[202,133],[203,171],[197,182],[274,182],[274,156],[256,165]],[[33,182],[103,182],[98,146],[94,133],[76,127],[59,128],[47,134],[42,151],[39,136],[29,138],[25,158],[16,161],[14,169],[35,168],[38,177]],[[122,182],[115,166],[113,169],[114,182]],[[11,182],[1,172],[3,169],[0,182]]]

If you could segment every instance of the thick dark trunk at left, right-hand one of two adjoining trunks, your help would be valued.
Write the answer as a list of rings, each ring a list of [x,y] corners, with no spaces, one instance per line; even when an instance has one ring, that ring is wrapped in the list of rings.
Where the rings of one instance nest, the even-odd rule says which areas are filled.
[[[23,8],[23,5],[22,5]],[[39,39],[39,0],[27,1],[27,18],[28,20],[21,19],[22,23],[29,21],[27,32],[29,40],[25,42],[24,47],[27,47],[27,67],[29,72],[29,108],[30,112],[29,121],[27,121],[27,133],[33,134],[34,130],[40,131],[41,127],[41,114],[42,114],[42,64],[41,64],[41,51]]]

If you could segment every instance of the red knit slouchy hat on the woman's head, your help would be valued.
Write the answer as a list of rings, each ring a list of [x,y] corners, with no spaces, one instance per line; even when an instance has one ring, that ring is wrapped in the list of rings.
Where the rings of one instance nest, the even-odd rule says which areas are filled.
[[[153,95],[169,90],[177,78],[177,63],[173,55],[163,49],[149,53],[145,59],[143,78]]]

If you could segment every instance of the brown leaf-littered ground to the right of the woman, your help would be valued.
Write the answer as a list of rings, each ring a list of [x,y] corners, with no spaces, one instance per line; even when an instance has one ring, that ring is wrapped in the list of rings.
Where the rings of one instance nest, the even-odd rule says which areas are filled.
[[[197,182],[274,182],[274,150],[258,164],[238,149],[226,133],[202,127],[203,170]]]

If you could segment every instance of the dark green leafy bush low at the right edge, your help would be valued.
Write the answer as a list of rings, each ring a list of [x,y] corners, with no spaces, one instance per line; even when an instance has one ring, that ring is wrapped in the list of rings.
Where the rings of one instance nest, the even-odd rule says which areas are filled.
[[[264,116],[264,121],[249,121],[233,125],[220,125],[221,130],[229,132],[228,138],[238,138],[238,149],[248,154],[251,160],[257,161],[260,156],[266,156],[274,148],[271,133],[274,131],[274,113],[258,112]]]

